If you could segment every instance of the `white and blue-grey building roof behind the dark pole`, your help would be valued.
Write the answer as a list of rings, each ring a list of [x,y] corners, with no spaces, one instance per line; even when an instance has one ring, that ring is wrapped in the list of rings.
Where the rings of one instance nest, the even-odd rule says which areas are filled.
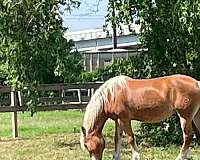
[[[117,47],[121,49],[134,50],[139,48],[139,32],[140,25],[133,24],[130,32],[128,26],[122,26],[122,30],[117,31]],[[112,45],[112,28],[108,28],[109,34],[103,31],[103,29],[90,29],[76,32],[66,32],[65,38],[72,39],[75,43],[75,50],[79,52],[86,51],[106,51],[113,48]]]

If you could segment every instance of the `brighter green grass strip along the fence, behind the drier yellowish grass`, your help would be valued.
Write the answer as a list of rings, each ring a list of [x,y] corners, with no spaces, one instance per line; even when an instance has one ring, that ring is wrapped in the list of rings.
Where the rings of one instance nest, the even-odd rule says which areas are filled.
[[[37,112],[18,114],[20,137],[35,137],[53,133],[78,133],[83,113],[79,111]],[[11,113],[0,114],[0,136],[11,137]]]

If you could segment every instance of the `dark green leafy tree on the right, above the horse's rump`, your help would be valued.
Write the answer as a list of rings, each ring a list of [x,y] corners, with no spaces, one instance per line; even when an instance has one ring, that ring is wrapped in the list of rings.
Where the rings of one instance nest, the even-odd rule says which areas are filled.
[[[111,2],[112,0],[110,0]],[[118,25],[137,17],[141,42],[148,48],[152,76],[186,73],[199,77],[200,1],[122,0],[116,2]],[[111,8],[110,6],[108,6]],[[107,21],[112,19],[111,12]]]

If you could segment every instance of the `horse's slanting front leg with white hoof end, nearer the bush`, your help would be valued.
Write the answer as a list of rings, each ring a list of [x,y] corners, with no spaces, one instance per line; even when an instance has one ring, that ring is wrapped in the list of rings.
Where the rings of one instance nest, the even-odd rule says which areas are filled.
[[[127,135],[128,143],[131,146],[132,150],[132,160],[140,160],[139,149],[137,147],[135,137],[131,128],[131,121],[123,122],[124,132]]]

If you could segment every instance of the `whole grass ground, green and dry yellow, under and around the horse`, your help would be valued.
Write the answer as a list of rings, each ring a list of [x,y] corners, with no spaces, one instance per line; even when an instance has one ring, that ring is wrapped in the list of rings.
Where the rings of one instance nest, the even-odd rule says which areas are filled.
[[[0,160],[88,160],[79,145],[79,128],[83,113],[79,111],[39,112],[18,116],[19,138],[11,138],[11,114],[0,114]],[[134,126],[134,127],[137,127]],[[113,152],[113,123],[104,127],[106,149],[104,160]],[[141,160],[173,160],[180,146],[148,147],[139,145]],[[191,145],[193,160],[200,160],[200,146]],[[131,159],[131,151],[123,138],[121,160]]]

